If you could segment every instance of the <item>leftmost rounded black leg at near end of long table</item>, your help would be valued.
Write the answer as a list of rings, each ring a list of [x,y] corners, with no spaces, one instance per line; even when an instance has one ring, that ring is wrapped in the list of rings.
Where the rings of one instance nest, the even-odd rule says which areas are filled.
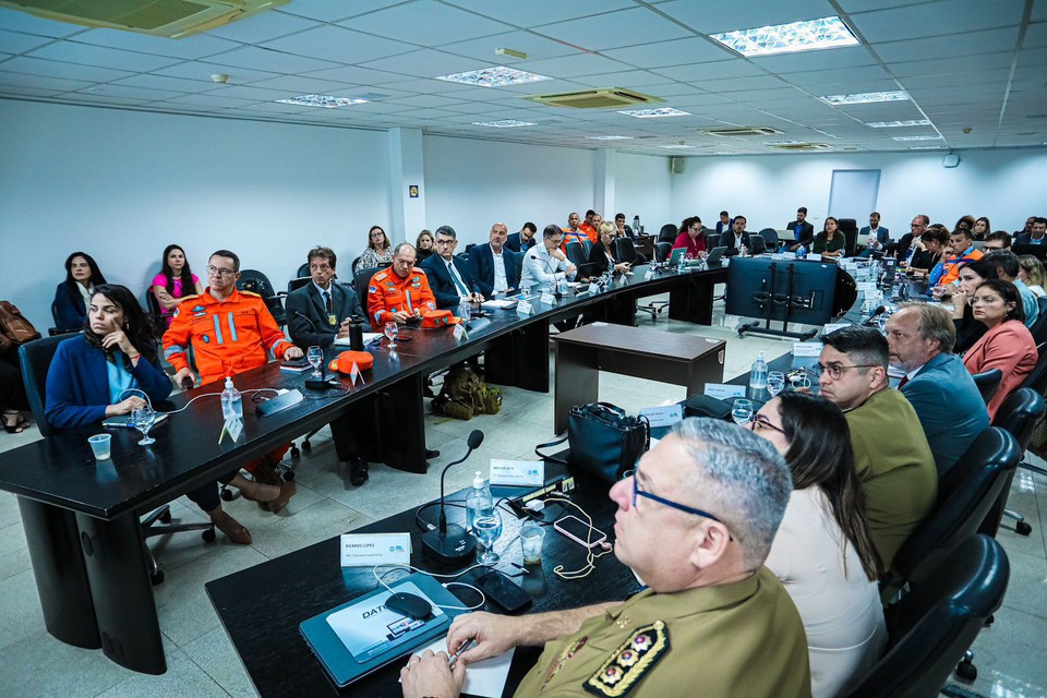
[[[19,497],[19,509],[40,594],[44,626],[67,645],[98,649],[101,638],[80,553],[75,515],[26,497]]]

